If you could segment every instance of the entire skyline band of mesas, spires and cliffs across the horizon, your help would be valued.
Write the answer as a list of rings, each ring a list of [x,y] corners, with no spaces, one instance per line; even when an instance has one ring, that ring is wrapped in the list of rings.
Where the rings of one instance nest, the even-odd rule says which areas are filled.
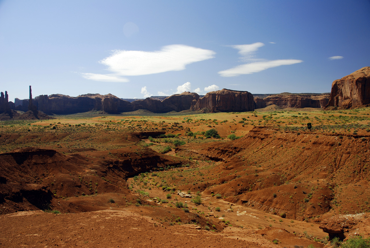
[[[8,101],[7,91],[1,93],[0,119],[20,118],[17,111],[29,112],[22,118],[50,118],[52,114],[76,114],[88,111],[102,111],[108,114],[120,114],[137,110],[152,113],[168,113],[180,111],[204,112],[246,112],[266,108],[324,108],[324,107],[356,107],[370,104],[370,67],[335,80],[331,93],[280,93],[255,94],[248,91],[222,89],[212,91],[204,96],[197,93],[184,92],[169,97],[148,97],[145,99],[121,99],[112,94],[83,94],[77,97],[52,94],[39,95],[25,100]],[[14,111],[17,110],[17,111]],[[40,113],[41,111],[41,113]],[[35,115],[36,113],[36,115]],[[44,114],[45,113],[45,114]],[[32,115],[34,117],[32,117]]]

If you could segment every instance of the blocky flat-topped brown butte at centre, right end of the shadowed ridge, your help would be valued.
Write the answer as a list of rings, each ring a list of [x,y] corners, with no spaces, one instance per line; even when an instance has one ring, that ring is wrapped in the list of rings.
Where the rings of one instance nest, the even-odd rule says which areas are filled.
[[[192,106],[192,110],[202,108],[220,112],[246,112],[255,110],[255,102],[248,91],[222,89],[207,93]]]

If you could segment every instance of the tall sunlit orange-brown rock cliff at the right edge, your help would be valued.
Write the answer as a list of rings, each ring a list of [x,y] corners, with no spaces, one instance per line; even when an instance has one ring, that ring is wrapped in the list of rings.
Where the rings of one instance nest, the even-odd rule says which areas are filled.
[[[363,67],[332,83],[327,106],[350,108],[370,103],[370,67]]]

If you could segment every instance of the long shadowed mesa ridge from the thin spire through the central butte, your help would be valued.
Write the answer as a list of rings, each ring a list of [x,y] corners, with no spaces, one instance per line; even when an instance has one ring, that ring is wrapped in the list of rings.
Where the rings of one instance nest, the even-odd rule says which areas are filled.
[[[17,102],[19,102],[18,100]],[[23,100],[16,110],[23,110],[29,100]],[[69,95],[52,94],[40,95],[33,99],[37,110],[46,114],[75,114],[91,110],[105,111],[107,113],[122,113],[144,109],[153,113],[167,113],[171,111],[200,110],[209,108],[213,111],[253,111],[255,104],[253,95],[248,91],[219,90],[207,93],[199,99],[196,93],[184,92],[171,95],[163,101],[146,98],[130,103],[112,94],[84,94],[77,97]],[[24,110],[23,110],[24,111]]]

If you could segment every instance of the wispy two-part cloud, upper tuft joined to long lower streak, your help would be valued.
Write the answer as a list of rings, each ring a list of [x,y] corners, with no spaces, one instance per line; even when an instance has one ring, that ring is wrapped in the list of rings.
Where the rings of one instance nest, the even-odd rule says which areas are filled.
[[[283,65],[291,65],[303,62],[302,60],[264,60],[264,59],[252,59],[253,54],[258,50],[259,47],[264,46],[265,44],[257,42],[249,45],[233,45],[230,47],[236,48],[239,50],[239,54],[242,54],[243,60],[249,62],[247,64],[242,64],[230,68],[228,70],[219,71],[218,74],[222,77],[235,77],[242,74],[252,74],[259,71],[266,70],[268,68],[273,68]]]

